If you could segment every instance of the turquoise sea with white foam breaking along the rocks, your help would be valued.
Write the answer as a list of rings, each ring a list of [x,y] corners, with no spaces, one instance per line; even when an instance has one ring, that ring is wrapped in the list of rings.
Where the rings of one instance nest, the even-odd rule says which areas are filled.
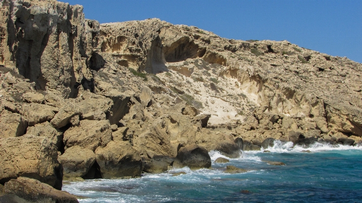
[[[271,153],[241,152],[212,169],[175,169],[130,180],[89,180],[63,190],[88,198],[79,202],[362,202],[362,147],[309,149],[275,142]],[[312,153],[301,152],[310,150]],[[212,161],[224,157],[210,152]],[[264,161],[282,161],[285,166]],[[249,172],[225,173],[226,165]],[[173,177],[173,172],[186,175]]]

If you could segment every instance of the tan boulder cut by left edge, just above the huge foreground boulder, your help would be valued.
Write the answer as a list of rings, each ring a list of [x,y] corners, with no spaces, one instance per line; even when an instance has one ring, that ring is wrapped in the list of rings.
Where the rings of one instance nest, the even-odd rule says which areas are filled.
[[[3,110],[0,114],[0,138],[18,137],[25,133],[26,120],[18,113]]]

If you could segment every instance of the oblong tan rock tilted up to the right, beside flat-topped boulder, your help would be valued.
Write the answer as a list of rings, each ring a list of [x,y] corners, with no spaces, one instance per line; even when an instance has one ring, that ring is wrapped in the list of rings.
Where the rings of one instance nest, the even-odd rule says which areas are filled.
[[[80,110],[78,106],[72,102],[69,102],[55,114],[54,118],[50,121],[54,128],[61,128],[69,123],[69,119],[75,114],[79,114]]]

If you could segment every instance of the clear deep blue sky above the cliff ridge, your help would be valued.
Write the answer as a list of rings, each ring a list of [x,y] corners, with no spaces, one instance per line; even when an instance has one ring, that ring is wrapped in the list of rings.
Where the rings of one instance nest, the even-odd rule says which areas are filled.
[[[86,18],[122,22],[159,18],[229,39],[288,40],[362,63],[362,0],[60,0]]]

